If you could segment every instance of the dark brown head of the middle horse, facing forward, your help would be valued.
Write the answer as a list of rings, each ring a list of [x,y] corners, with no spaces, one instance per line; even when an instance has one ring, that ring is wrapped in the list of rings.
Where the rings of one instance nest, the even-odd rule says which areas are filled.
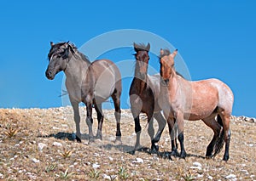
[[[147,76],[148,72],[148,60],[149,55],[148,51],[150,49],[150,44],[148,43],[147,46],[144,44],[136,44],[133,43],[134,50],[136,51],[135,58],[136,58],[136,69],[135,74],[138,78],[144,80]]]

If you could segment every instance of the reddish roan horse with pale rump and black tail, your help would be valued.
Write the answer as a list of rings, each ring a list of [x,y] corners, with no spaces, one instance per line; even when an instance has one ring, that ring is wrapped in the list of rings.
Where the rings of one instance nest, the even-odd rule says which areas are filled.
[[[181,148],[180,157],[185,158],[183,120],[202,120],[212,128],[214,133],[210,144],[207,145],[206,157],[216,156],[225,144],[223,160],[228,161],[231,137],[230,116],[234,95],[231,89],[218,79],[192,82],[177,75],[174,67],[176,54],[177,50],[172,54],[168,49],[160,50],[159,104],[166,116],[171,139],[173,140],[176,135],[174,126],[177,126],[177,139]],[[176,145],[173,143],[172,155],[178,156]]]

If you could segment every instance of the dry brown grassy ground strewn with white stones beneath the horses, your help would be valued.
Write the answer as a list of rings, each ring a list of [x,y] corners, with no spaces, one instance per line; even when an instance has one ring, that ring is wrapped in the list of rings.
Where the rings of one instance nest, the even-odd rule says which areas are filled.
[[[88,144],[88,128],[82,110],[82,144],[72,139],[73,111],[53,109],[0,110],[0,179],[3,180],[223,180],[256,179],[255,122],[237,118],[231,122],[230,160],[224,150],[205,159],[212,130],[202,122],[185,123],[186,160],[150,155],[147,150],[127,153],[135,141],[129,110],[121,118],[122,144],[114,143],[113,110],[104,110],[103,140]],[[150,147],[146,121],[142,120],[143,146]],[[94,113],[94,132],[96,133]],[[160,152],[170,150],[167,128],[160,139]]]

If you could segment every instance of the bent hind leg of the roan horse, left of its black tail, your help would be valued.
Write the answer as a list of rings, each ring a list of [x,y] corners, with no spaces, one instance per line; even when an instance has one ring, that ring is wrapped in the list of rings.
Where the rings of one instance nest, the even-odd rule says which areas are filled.
[[[221,126],[218,124],[218,122],[216,122],[215,115],[209,116],[209,117],[203,119],[202,121],[205,122],[205,124],[208,127],[211,127],[212,131],[214,133],[214,135],[212,137],[212,141],[207,146],[207,154],[206,154],[207,158],[211,158],[213,156],[214,146],[218,140],[218,137],[219,137],[219,134],[221,131]]]

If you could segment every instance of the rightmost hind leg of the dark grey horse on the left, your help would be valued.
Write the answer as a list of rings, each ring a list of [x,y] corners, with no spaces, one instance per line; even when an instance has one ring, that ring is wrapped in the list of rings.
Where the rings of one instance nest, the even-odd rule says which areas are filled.
[[[112,95],[113,105],[114,105],[114,117],[116,120],[116,141],[121,141],[121,130],[120,130],[120,119],[121,119],[121,109],[120,109],[120,95],[118,91],[115,91]]]

